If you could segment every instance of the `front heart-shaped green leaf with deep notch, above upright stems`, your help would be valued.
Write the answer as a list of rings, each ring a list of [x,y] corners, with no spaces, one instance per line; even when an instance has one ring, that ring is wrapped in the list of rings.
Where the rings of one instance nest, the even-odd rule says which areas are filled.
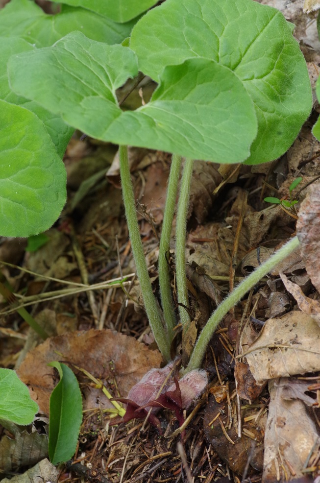
[[[138,72],[126,47],[73,32],[51,48],[12,57],[8,72],[15,92],[103,141],[228,163],[246,159],[257,132],[243,83],[208,59],[168,66],[150,102],[133,112],[122,112],[115,97]]]

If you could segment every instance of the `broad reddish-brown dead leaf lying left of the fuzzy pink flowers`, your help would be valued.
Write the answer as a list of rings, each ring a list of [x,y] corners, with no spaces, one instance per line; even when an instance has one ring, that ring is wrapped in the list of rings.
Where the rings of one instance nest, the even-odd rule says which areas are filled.
[[[160,366],[162,357],[159,351],[149,350],[135,338],[112,330],[91,329],[48,338],[27,354],[18,371],[40,411],[47,415],[55,385],[53,368],[47,365],[51,361],[69,363],[72,369],[75,364],[101,379],[114,397],[126,397],[149,369]],[[89,386],[88,378],[76,370],[75,373],[84,383],[84,410],[113,407],[100,389]]]

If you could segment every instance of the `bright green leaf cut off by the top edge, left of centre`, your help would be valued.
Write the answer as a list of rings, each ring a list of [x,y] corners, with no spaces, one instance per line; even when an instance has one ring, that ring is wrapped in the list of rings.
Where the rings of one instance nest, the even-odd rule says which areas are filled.
[[[53,0],[74,7],[88,8],[115,22],[128,22],[157,3],[157,0]]]

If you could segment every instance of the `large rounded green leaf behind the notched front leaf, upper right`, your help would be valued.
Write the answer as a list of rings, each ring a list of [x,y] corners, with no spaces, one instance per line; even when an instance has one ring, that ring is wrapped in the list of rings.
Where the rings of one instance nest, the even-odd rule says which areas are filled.
[[[311,111],[308,72],[292,25],[258,2],[167,0],[136,24],[130,47],[139,69],[153,79],[165,66],[197,56],[235,72],[258,119],[249,164],[283,154]]]

